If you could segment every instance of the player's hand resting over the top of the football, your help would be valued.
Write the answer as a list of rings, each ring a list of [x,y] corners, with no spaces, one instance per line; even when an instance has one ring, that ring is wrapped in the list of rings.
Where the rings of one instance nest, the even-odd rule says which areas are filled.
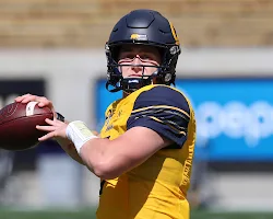
[[[28,103],[32,101],[38,102],[39,107],[45,107],[45,106],[49,107],[54,112],[54,117],[57,118],[57,114],[56,114],[56,111],[54,108],[52,102],[49,101],[45,96],[37,96],[37,95],[33,95],[33,94],[27,93],[27,94],[15,97],[14,101],[17,103]]]

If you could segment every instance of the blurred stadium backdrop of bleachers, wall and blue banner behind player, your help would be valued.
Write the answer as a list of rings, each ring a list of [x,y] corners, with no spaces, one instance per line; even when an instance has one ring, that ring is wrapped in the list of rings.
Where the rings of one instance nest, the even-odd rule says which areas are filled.
[[[0,106],[46,95],[92,129],[121,93],[105,90],[104,45],[134,9],[182,43],[177,88],[198,122],[192,218],[273,218],[273,0],[0,0]],[[99,181],[54,141],[0,150],[0,218],[95,218]]]

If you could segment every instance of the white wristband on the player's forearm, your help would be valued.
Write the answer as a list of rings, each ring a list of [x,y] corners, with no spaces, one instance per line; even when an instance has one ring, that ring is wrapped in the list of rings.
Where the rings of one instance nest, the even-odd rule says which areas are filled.
[[[85,142],[90,139],[97,138],[85,125],[85,123],[81,120],[74,120],[69,123],[66,130],[68,139],[70,139],[80,154],[81,148]]]

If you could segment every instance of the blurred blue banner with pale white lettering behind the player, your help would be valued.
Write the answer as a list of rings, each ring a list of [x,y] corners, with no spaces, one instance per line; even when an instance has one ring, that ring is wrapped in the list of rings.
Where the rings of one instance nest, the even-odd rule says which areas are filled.
[[[273,79],[178,79],[195,110],[195,154],[210,161],[273,161]],[[97,124],[121,92],[96,84]]]

